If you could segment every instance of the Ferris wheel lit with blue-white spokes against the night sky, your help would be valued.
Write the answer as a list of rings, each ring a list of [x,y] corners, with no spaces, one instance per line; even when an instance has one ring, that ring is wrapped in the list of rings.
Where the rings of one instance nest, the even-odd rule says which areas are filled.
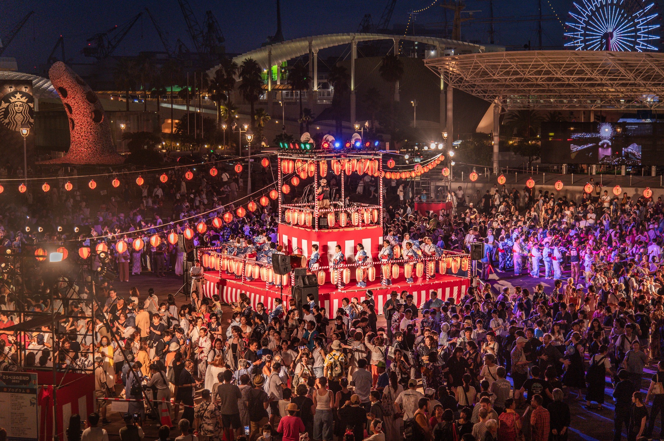
[[[572,21],[565,23],[570,41],[565,46],[576,50],[657,50],[651,42],[659,40],[653,22],[657,13],[654,3],[641,0],[578,0]]]

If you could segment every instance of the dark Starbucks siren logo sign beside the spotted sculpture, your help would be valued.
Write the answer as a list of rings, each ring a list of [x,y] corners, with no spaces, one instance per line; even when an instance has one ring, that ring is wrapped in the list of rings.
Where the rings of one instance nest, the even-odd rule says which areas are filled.
[[[11,131],[35,124],[35,97],[30,80],[0,80],[0,123]]]

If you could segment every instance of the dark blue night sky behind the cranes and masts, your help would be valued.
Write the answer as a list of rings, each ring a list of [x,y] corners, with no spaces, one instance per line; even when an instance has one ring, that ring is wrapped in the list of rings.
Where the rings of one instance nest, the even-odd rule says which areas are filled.
[[[404,25],[408,22],[409,11],[427,7],[432,1],[397,0],[391,24]],[[443,1],[438,0],[439,3]],[[552,16],[554,11],[550,5],[554,5],[560,21],[566,21],[571,0],[541,1],[543,15]],[[226,38],[226,52],[241,53],[257,48],[276,29],[276,0],[189,0],[189,3],[199,22],[203,21],[205,10],[214,12]],[[307,35],[355,32],[366,13],[371,13],[376,23],[386,3],[387,0],[282,0],[284,37],[288,40]],[[515,17],[515,11],[521,17],[537,14],[537,0],[494,0],[493,3],[495,17]],[[193,49],[177,0],[4,0],[0,3],[3,17],[0,35],[11,29],[28,11],[34,10],[35,15],[3,56],[17,58],[19,70],[35,72],[39,64],[46,62],[58,36],[63,34],[66,57],[74,58],[76,62],[91,62],[94,58],[86,59],[79,53],[85,39],[113,25],[122,25],[144,7],[148,7],[159,25],[169,32],[172,46],[177,38],[181,38]],[[477,20],[489,17],[488,0],[468,0],[466,9],[479,11],[473,13]],[[451,18],[450,13],[448,17]],[[561,46],[563,27],[555,17],[550,19],[543,23],[542,45]],[[440,23],[444,20],[444,9],[434,5],[420,13],[416,20],[422,24]],[[470,23],[463,25],[463,39],[488,42],[488,23]],[[495,25],[495,42],[523,46],[531,40],[536,46],[536,29],[535,21],[510,23],[503,20]],[[147,14],[143,14],[114,55],[133,55],[141,50],[163,50]]]

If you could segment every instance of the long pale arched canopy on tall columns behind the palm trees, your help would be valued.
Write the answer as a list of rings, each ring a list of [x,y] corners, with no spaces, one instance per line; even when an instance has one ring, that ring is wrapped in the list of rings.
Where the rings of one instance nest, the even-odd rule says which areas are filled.
[[[253,58],[264,69],[268,68],[268,53],[272,52],[272,64],[279,64],[281,62],[290,60],[304,54],[309,53],[309,42],[313,50],[320,50],[331,48],[333,46],[340,46],[341,44],[349,44],[352,40],[357,42],[372,41],[372,40],[392,40],[398,38],[399,40],[416,41],[432,46],[440,46],[440,48],[455,48],[465,52],[484,52],[487,46],[481,44],[467,43],[463,41],[448,40],[446,38],[432,38],[429,36],[413,36],[413,35],[389,35],[389,34],[363,34],[363,33],[346,33],[346,34],[326,34],[305,36],[303,38],[295,38],[295,40],[288,40],[280,43],[268,44],[258,49],[245,52],[233,58],[237,64],[243,62],[246,58]],[[491,46],[498,47],[498,46]],[[210,69],[208,73],[214,75],[218,66]]]

